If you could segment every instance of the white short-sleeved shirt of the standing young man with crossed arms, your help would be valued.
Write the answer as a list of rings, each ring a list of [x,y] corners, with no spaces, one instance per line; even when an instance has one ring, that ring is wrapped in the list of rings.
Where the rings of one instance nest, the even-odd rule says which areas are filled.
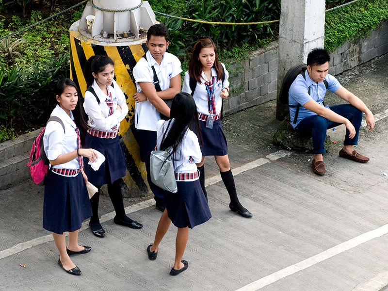
[[[169,89],[170,80],[182,72],[179,59],[173,54],[165,52],[161,65],[158,65],[149,51],[147,51],[146,57],[147,60],[141,58],[133,68],[133,77],[136,80],[137,92],[142,92],[139,82],[153,83],[154,72],[151,66],[155,68],[162,91]],[[137,129],[156,131],[156,123],[159,120],[161,120],[161,115],[151,102],[148,100],[139,103],[136,102],[135,127]]]

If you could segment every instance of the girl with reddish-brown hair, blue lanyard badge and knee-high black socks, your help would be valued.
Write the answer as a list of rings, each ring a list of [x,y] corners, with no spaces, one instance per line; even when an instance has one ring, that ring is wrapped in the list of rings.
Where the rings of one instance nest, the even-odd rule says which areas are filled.
[[[233,174],[227,156],[227,145],[221,125],[222,98],[229,96],[229,73],[218,60],[217,48],[209,38],[197,41],[185,73],[182,92],[190,93],[195,100],[201,128],[203,146],[202,161],[198,164],[199,180],[205,190],[205,156],[214,156],[220,168],[221,178],[230,197],[229,208],[241,216],[249,218],[252,213],[242,207],[237,197]]]

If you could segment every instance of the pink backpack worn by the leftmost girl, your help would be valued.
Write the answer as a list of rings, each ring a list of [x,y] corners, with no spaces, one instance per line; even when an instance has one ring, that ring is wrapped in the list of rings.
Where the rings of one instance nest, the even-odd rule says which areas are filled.
[[[46,123],[50,121],[59,122],[65,131],[65,125],[61,118],[57,116],[51,116]],[[49,159],[46,156],[44,146],[43,146],[43,136],[45,135],[45,129],[38,135],[35,141],[32,144],[30,161],[27,163],[27,166],[30,168],[32,180],[36,185],[44,185],[47,179],[47,172],[49,171]]]

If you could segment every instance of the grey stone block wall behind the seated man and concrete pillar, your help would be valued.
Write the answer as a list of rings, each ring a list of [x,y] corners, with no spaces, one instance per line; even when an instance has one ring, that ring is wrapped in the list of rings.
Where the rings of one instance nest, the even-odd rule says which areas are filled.
[[[329,73],[338,75],[388,53],[388,22],[368,37],[346,42],[330,54]],[[250,54],[249,60],[226,64],[231,94],[224,100],[224,115],[276,99],[278,42]]]

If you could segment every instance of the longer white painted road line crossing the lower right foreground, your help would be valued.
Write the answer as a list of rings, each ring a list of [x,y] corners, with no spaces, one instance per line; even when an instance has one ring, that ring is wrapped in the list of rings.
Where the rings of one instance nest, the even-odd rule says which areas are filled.
[[[364,242],[369,242],[375,238],[381,237],[388,233],[388,224],[381,226],[372,231],[363,233],[354,239],[351,239],[347,242],[340,243],[326,251],[323,251],[320,254],[317,254],[313,257],[300,261],[292,266],[279,270],[271,275],[265,276],[255,282],[252,282],[236,291],[257,291],[265,286],[268,286],[278,280],[281,280],[289,275],[295,274],[299,271],[305,270],[315,264],[318,264],[325,259],[334,257],[340,253],[343,253],[347,250],[350,250]]]

